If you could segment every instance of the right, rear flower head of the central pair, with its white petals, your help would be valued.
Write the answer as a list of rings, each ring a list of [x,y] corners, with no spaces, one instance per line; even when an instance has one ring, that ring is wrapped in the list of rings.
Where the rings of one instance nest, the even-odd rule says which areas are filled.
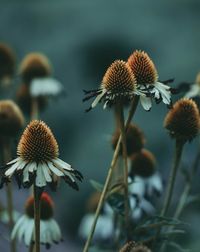
[[[163,83],[158,80],[156,67],[146,52],[140,50],[133,52],[128,58],[128,65],[135,76],[138,91],[146,93],[146,96],[140,96],[145,110],[151,109],[152,98],[157,103],[163,101],[164,104],[171,105],[173,89],[166,83],[172,82],[172,80]]]

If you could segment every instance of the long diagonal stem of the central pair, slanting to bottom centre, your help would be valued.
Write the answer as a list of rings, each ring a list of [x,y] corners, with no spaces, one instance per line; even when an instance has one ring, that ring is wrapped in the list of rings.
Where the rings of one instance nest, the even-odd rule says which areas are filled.
[[[128,126],[129,126],[129,124],[131,122],[131,119],[132,119],[132,117],[133,117],[133,115],[134,115],[134,113],[136,111],[138,101],[139,101],[139,97],[135,96],[135,98],[132,101],[131,108],[130,108],[129,115],[128,115],[128,119],[127,119],[127,122],[126,122],[126,126],[125,126],[126,130],[127,130]],[[119,150],[120,150],[120,143],[121,143],[121,135],[119,137],[119,140],[117,142],[117,146],[116,146],[114,154],[113,154],[113,158],[112,158],[112,161],[111,161],[110,168],[108,170],[108,174],[107,174],[107,178],[106,178],[106,181],[105,181],[105,184],[104,184],[104,188],[103,188],[103,191],[101,193],[101,197],[100,197],[97,209],[96,209],[96,213],[95,213],[94,221],[93,221],[93,224],[92,224],[92,228],[90,230],[90,234],[89,234],[89,236],[87,238],[87,241],[85,243],[85,247],[83,249],[83,252],[88,252],[90,243],[92,241],[92,237],[93,237],[93,234],[94,234],[94,231],[95,231],[97,220],[98,220],[100,211],[102,209],[104,199],[106,197],[106,193],[107,193],[107,190],[108,190],[108,187],[109,187],[109,184],[110,184],[110,180],[111,180],[111,177],[112,177],[112,172],[113,172],[114,167],[115,167],[115,165],[117,163],[117,158],[118,158]]]

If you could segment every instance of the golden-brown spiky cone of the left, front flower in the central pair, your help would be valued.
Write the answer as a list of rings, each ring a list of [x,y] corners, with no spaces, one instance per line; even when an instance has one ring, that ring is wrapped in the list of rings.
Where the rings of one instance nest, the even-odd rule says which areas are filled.
[[[132,92],[135,84],[136,80],[130,67],[122,60],[114,61],[102,80],[102,87],[113,94]]]

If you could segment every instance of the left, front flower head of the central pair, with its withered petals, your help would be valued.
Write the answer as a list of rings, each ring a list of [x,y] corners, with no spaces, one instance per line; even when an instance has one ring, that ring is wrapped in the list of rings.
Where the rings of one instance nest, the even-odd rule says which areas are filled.
[[[99,102],[104,102],[104,108],[112,106],[119,100],[131,100],[136,93],[136,79],[130,66],[122,61],[116,60],[107,69],[101,86],[97,90],[85,91],[86,97],[83,101],[96,97],[90,108],[94,108]]]

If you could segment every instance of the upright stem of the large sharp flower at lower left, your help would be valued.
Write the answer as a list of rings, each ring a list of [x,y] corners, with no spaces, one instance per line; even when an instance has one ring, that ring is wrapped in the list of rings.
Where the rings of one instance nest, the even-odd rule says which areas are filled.
[[[34,185],[35,252],[40,252],[40,194]]]

